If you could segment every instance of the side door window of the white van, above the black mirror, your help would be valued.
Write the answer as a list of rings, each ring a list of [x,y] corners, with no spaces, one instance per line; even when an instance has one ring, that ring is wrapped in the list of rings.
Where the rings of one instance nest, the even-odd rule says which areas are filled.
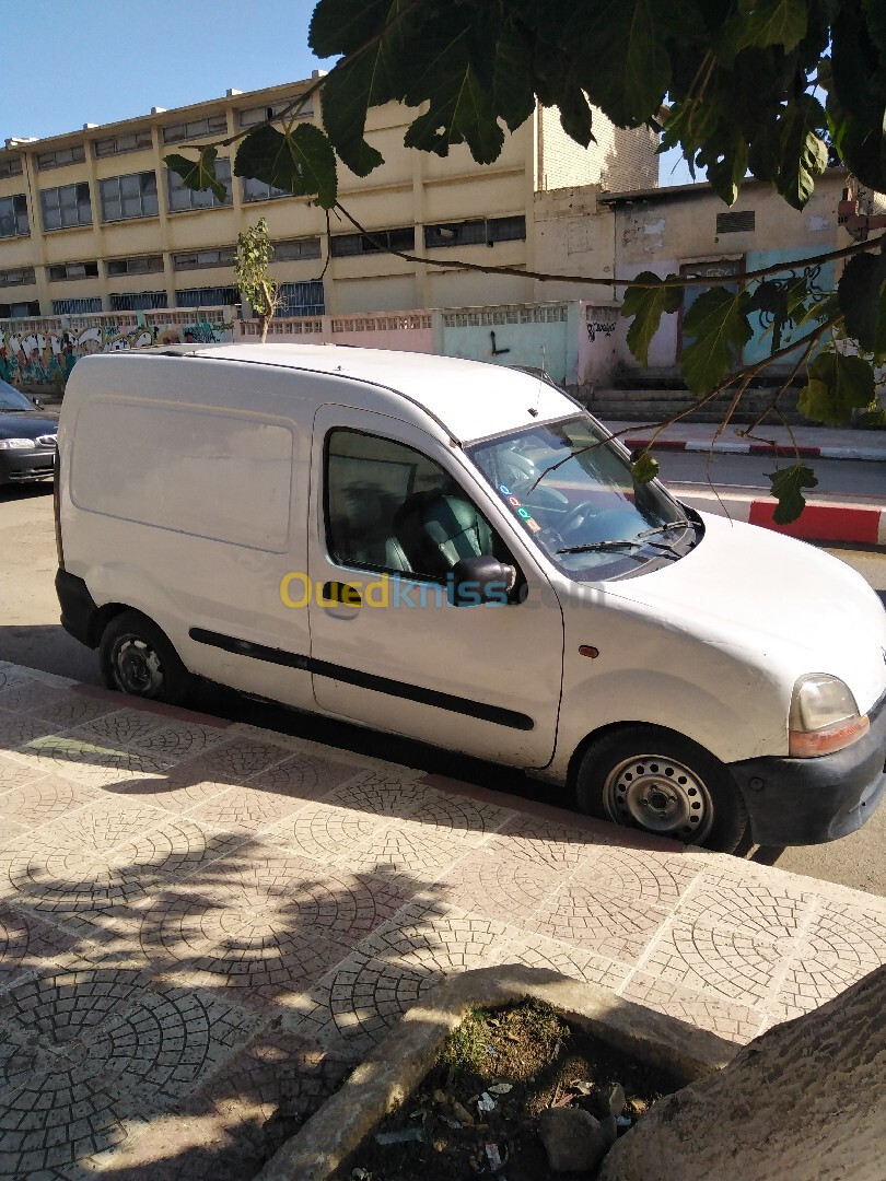
[[[489,522],[432,459],[393,439],[326,438],[326,543],[333,561],[445,579],[470,555],[513,562]]]

